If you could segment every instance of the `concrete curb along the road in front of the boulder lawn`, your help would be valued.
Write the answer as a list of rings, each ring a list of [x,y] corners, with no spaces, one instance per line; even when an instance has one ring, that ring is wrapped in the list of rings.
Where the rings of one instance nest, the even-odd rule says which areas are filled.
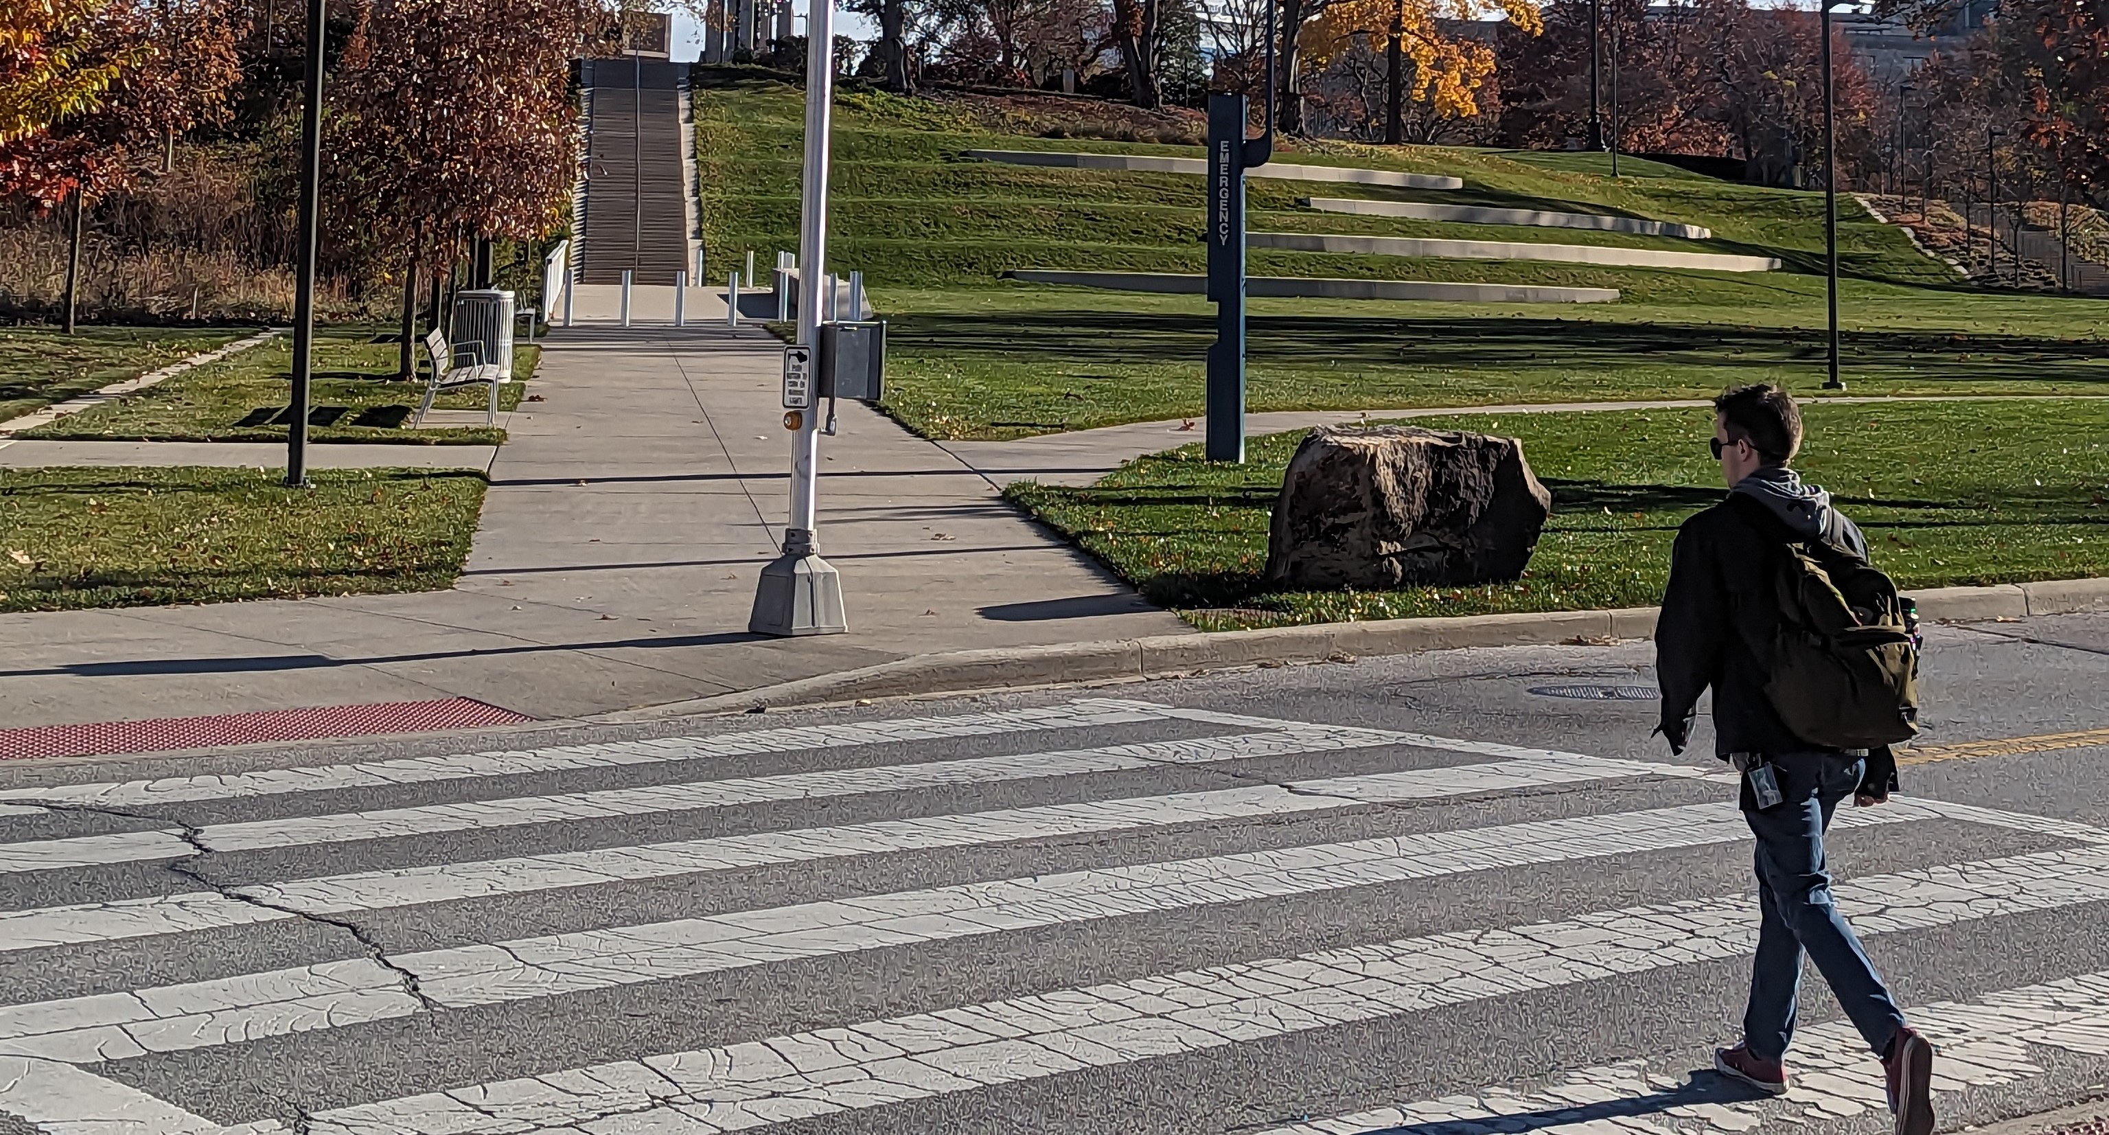
[[[1919,616],[1976,622],[2109,610],[2109,578],[1915,591]],[[913,654],[759,690],[671,703],[597,722],[637,722],[688,713],[736,713],[755,707],[829,705],[860,698],[1021,690],[1071,681],[1179,677],[1213,669],[1289,667],[1354,656],[1421,654],[1485,646],[1601,646],[1647,639],[1658,608],[1603,612],[1476,614],[1459,618],[1390,618],[1316,622],[1263,631],[1152,635],[1014,650]]]

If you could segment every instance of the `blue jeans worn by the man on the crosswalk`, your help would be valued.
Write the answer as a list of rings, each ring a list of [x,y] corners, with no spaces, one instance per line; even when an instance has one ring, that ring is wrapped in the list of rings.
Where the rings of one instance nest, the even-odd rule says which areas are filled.
[[[1786,800],[1763,812],[1744,812],[1757,833],[1757,905],[1763,918],[1750,1008],[1742,1017],[1744,1042],[1750,1055],[1767,1061],[1786,1055],[1795,1036],[1801,954],[1807,951],[1866,1046],[1883,1055],[1904,1015],[1831,901],[1831,871],[1824,869],[1824,829],[1839,802],[1860,787],[1862,759],[1784,753],[1769,764]]]

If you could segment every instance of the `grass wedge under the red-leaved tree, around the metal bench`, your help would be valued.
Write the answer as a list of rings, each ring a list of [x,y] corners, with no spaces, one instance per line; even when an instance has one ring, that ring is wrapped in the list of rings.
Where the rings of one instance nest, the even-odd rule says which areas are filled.
[[[426,445],[496,445],[504,430],[434,426],[413,430],[411,416],[424,397],[418,382],[394,382],[396,344],[384,327],[340,325],[314,333],[308,439],[318,443],[394,441]],[[519,405],[534,378],[538,346],[517,346],[512,382],[498,388],[498,407]],[[23,437],[74,441],[285,441],[287,384],[293,367],[291,335],[232,359],[183,371],[160,386],[99,405]],[[439,409],[483,409],[483,388],[451,390]]]

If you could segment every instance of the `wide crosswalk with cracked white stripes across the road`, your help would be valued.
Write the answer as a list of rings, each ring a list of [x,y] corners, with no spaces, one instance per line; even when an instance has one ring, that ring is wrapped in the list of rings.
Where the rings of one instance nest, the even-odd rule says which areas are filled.
[[[0,787],[0,1131],[1702,1135],[1881,1105],[1833,1021],[1780,1101],[1691,1074],[1755,941],[1748,829],[1698,764],[1078,698],[30,776]],[[2101,937],[2109,831],[1930,797],[1839,829],[1839,905],[1947,989],[1913,1013],[1942,1097],[2109,1061],[2109,956],[2058,945]],[[2042,956],[1909,949],[2008,926]],[[1713,1017],[1510,1059],[1649,998]]]

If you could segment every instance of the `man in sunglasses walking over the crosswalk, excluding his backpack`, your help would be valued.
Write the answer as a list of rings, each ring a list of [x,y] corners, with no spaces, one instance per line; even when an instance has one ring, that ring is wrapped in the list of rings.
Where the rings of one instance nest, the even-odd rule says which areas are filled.
[[[1713,688],[1717,755],[1742,778],[1742,810],[1757,835],[1759,932],[1750,1006],[1742,1042],[1715,1053],[1715,1067],[1759,1091],[1786,1091],[1786,1044],[1795,1034],[1801,956],[1839,998],[1888,1074],[1898,1135],[1932,1135],[1928,1080],[1934,1049],[1890,998],[1860,939],[1831,899],[1824,829],[1839,802],[1888,800],[1894,762],[1877,751],[1871,774],[1864,751],[1829,749],[1795,736],[1765,696],[1774,629],[1772,563],[1786,555],[1791,532],[1822,540],[1860,559],[1866,540],[1831,506],[1831,496],[1803,485],[1788,468],[1801,447],[1801,411],[1776,386],[1740,386],[1715,399],[1713,454],[1729,498],[1677,532],[1670,584],[1656,627],[1656,671],[1662,684],[1662,726],[1672,751],[1683,751],[1700,694]],[[1780,523],[1750,515],[1748,496]]]

